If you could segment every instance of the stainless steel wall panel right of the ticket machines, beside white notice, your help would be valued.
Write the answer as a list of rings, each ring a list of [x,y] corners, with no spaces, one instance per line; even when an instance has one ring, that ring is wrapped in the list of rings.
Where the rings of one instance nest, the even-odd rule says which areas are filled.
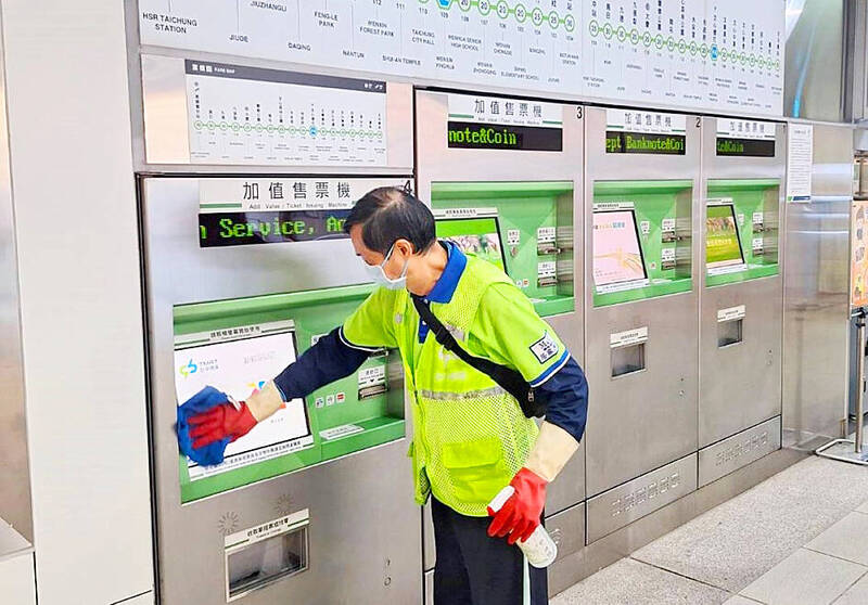
[[[852,198],[853,130],[814,124],[812,199],[786,207],[784,446],[815,448],[842,432]]]

